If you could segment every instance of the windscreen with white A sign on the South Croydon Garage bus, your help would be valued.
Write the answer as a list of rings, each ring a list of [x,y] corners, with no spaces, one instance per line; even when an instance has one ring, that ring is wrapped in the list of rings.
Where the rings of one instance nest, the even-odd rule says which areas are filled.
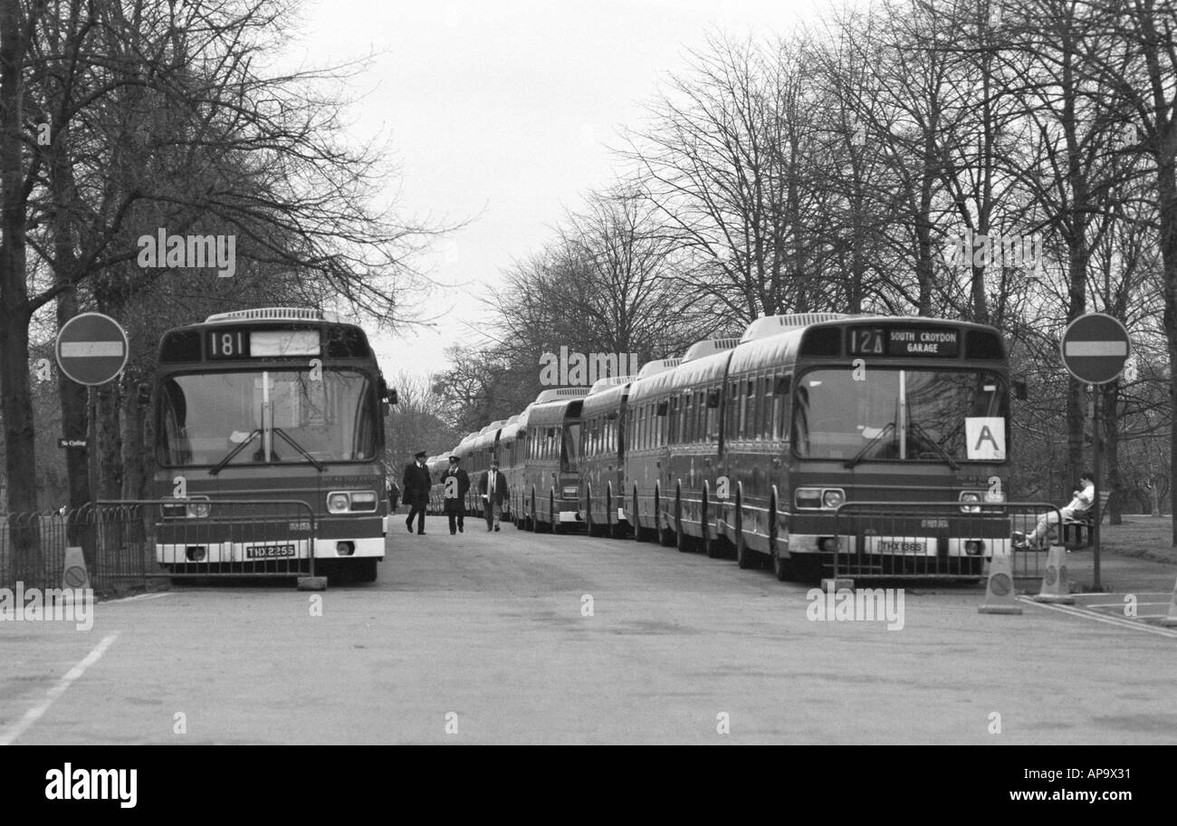
[[[990,371],[813,369],[797,382],[803,459],[1004,461],[1009,397]]]

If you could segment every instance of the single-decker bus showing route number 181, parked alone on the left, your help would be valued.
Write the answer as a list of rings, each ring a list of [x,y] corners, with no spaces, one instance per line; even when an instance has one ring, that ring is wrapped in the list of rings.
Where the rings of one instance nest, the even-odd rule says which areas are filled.
[[[153,494],[186,500],[165,508],[173,518],[158,528],[161,565],[173,573],[228,565],[247,572],[313,553],[375,579],[388,509],[381,402],[394,402],[395,392],[363,329],[319,309],[210,315],[164,334],[152,395]],[[255,517],[247,544],[231,540],[219,520],[233,509],[227,500],[261,502],[237,511]],[[305,520],[274,519],[279,508],[267,500],[305,502],[313,541],[293,541],[307,535]],[[220,511],[218,501],[226,502]],[[202,519],[214,528],[208,541],[186,541]]]

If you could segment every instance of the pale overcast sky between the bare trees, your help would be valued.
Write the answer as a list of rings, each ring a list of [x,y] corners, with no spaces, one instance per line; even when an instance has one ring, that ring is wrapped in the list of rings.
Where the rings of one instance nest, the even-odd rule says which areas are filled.
[[[477,335],[478,299],[552,237],[566,207],[619,168],[607,145],[686,49],[722,28],[772,36],[814,0],[307,0],[285,59],[322,66],[378,53],[351,84],[353,141],[384,136],[405,214],[472,222],[423,260],[446,287],[405,295],[434,328],[374,339],[385,374],[445,369]],[[285,61],[284,61],[285,62]],[[388,196],[398,194],[387,193]],[[406,360],[411,357],[411,361]]]

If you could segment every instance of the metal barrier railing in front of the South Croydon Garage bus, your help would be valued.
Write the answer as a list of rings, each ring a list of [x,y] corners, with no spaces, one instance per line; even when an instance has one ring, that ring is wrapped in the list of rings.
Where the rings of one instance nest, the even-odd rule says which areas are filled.
[[[1045,553],[1015,547],[1053,512],[1049,502],[845,502],[834,511],[833,577],[980,579],[993,554],[1012,554],[1013,575],[1040,575]]]

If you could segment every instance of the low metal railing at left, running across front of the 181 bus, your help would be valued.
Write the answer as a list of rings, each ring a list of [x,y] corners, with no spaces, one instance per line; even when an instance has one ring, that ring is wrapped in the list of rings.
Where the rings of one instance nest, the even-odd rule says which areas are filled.
[[[0,587],[60,587],[67,547],[82,549],[99,592],[155,578],[313,577],[317,535],[301,500],[100,500],[0,515]]]

